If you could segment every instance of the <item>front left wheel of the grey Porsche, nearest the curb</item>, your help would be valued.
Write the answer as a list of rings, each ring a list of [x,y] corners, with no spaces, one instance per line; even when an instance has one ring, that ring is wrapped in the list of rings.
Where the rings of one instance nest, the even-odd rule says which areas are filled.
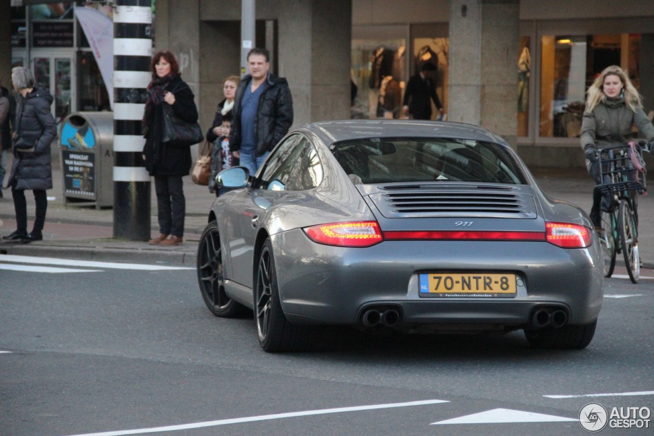
[[[211,313],[220,318],[235,318],[247,314],[247,309],[230,299],[225,293],[222,250],[218,224],[210,222],[205,227],[198,244],[198,286],[202,299]]]

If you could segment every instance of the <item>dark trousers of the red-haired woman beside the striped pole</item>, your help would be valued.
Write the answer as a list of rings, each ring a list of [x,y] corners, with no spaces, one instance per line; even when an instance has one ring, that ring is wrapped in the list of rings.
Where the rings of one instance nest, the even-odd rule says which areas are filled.
[[[157,193],[159,231],[162,235],[184,236],[186,198],[181,176],[154,176]]]

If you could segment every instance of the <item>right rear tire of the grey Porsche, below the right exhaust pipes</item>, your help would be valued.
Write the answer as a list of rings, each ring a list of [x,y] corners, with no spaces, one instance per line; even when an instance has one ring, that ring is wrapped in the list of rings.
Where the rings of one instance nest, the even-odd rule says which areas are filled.
[[[593,341],[597,320],[583,326],[525,329],[528,343],[534,348],[550,350],[582,350]]]

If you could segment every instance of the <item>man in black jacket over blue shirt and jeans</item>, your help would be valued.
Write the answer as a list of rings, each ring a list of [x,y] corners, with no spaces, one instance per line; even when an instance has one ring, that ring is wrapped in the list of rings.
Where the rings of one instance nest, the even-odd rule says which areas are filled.
[[[230,150],[254,175],[293,124],[293,100],[285,78],[269,72],[270,54],[252,48],[247,54],[249,75],[236,90]]]

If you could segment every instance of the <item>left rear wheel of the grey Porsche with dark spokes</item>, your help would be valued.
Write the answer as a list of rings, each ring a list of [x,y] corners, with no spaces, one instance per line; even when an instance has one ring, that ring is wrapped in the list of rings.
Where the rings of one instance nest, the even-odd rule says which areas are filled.
[[[254,320],[259,344],[266,352],[301,351],[309,342],[309,327],[290,323],[282,310],[270,239],[262,247],[256,271]]]

